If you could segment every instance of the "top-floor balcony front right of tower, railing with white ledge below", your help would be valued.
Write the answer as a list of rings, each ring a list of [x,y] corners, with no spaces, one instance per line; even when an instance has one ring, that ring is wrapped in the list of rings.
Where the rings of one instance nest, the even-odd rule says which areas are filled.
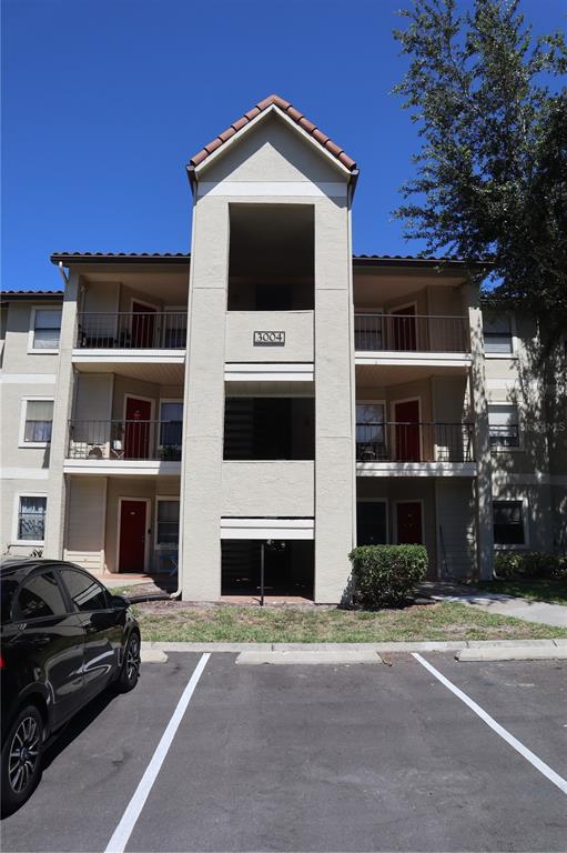
[[[361,364],[453,367],[468,363],[470,335],[465,317],[356,311],[354,347]]]

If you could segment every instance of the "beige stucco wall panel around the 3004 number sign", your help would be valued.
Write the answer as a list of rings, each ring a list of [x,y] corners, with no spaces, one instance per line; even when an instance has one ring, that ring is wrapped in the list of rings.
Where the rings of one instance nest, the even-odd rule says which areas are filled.
[[[254,345],[254,331],[283,331],[283,345]],[[229,311],[226,362],[312,362],[313,311]]]

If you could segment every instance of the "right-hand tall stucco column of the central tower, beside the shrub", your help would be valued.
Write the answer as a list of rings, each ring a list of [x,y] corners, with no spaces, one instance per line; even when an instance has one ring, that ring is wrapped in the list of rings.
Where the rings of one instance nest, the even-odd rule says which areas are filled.
[[[346,200],[315,207],[315,601],[345,591],[356,501],[352,260]]]

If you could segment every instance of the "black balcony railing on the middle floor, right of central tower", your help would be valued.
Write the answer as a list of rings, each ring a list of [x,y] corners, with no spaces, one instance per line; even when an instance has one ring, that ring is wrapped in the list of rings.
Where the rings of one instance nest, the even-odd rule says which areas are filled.
[[[473,462],[472,423],[357,423],[357,462]]]

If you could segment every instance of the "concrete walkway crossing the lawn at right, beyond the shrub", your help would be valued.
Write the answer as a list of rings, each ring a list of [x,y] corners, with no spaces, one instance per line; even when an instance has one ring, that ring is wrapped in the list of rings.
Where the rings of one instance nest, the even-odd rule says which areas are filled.
[[[423,583],[419,592],[434,601],[455,601],[470,608],[484,610],[500,616],[514,616],[525,622],[538,622],[541,625],[567,628],[567,606],[547,604],[543,601],[528,601],[503,593],[480,592],[469,586],[453,583]]]

